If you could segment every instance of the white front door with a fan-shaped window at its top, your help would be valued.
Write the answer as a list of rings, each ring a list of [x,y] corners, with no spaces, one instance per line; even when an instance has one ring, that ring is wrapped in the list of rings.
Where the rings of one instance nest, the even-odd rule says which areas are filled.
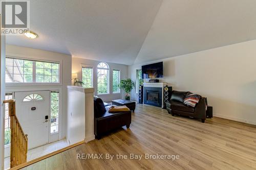
[[[25,134],[28,149],[49,142],[50,91],[15,92],[16,116]]]

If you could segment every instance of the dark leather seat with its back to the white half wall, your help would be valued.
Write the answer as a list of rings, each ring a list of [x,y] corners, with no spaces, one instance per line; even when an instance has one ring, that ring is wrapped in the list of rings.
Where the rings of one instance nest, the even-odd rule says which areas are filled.
[[[94,134],[100,139],[103,134],[111,130],[126,126],[132,122],[132,111],[109,113],[110,106],[105,106],[100,98],[94,98]]]

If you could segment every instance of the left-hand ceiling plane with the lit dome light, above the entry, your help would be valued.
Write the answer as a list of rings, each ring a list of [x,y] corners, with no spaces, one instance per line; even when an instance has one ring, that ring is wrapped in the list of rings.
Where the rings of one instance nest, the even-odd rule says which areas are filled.
[[[162,0],[33,0],[30,28],[39,35],[7,43],[133,64]]]

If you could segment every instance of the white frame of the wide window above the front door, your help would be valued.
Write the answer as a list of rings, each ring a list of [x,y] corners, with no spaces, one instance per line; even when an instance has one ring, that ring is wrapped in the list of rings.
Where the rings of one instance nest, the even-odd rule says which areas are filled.
[[[62,62],[60,61],[51,61],[51,60],[41,60],[36,58],[28,58],[23,55],[14,56],[14,55],[6,55],[6,58],[18,59],[18,60],[30,60],[30,61],[38,61],[38,62],[48,62],[48,63],[56,63],[59,64],[59,82],[58,83],[44,83],[44,82],[5,82],[6,86],[60,86],[62,85]],[[33,70],[35,70],[35,65],[33,65]],[[33,72],[33,77],[36,72]],[[34,81],[34,78],[33,78]]]

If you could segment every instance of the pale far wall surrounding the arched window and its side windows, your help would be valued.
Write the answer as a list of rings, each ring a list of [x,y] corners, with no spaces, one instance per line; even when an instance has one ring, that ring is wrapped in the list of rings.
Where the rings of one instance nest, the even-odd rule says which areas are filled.
[[[93,66],[94,72],[93,72],[93,85],[95,88],[95,95],[98,95],[99,98],[101,98],[104,102],[111,102],[112,100],[116,99],[122,99],[124,94],[121,91],[121,93],[112,93],[112,70],[117,69],[120,70],[120,80],[127,78],[127,65],[123,64],[116,64],[116,63],[110,63],[106,62],[110,67],[110,94],[97,94],[97,65],[100,61],[96,60],[88,60],[88,59],[82,59],[82,58],[72,58],[72,73],[77,73],[77,77],[81,79],[81,65],[90,65]]]

